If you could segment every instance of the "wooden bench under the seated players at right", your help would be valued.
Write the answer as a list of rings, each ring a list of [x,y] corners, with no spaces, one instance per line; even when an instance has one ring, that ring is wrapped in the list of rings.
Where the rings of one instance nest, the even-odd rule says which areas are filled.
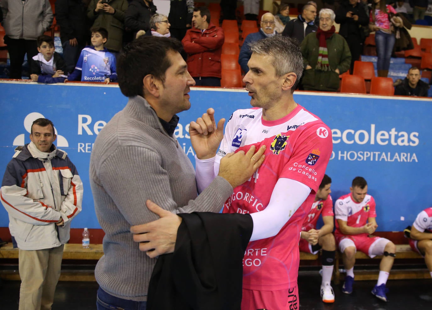
[[[377,260],[377,266],[379,265],[379,261],[383,256],[375,256],[374,258],[370,258],[366,254],[357,251],[356,260],[357,259],[375,259]],[[414,252],[409,244],[396,244],[396,257],[395,260],[398,259],[423,259],[423,257]],[[333,281],[335,284],[339,284],[341,280],[340,276],[340,262],[342,261],[342,253],[336,251],[336,258],[334,264],[334,278]],[[424,263],[424,261],[423,261]],[[354,272],[357,280],[376,280],[378,279],[378,271],[377,270],[356,270],[356,266],[354,266]],[[428,279],[430,278],[429,271],[427,269],[403,269],[403,270],[392,270],[388,277],[389,279]],[[343,280],[343,279],[342,279]]]

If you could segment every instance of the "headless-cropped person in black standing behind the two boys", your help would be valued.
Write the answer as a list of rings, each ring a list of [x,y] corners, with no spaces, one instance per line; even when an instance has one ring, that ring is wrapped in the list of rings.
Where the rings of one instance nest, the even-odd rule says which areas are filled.
[[[86,46],[89,36],[87,6],[84,1],[57,0],[55,2],[55,16],[60,26],[63,57],[69,73],[74,70],[79,53]]]

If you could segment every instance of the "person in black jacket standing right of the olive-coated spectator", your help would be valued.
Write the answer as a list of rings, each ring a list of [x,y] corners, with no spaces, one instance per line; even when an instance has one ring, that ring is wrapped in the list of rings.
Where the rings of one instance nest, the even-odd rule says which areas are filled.
[[[126,31],[133,32],[133,37],[138,30],[150,29],[150,18],[156,13],[153,0],[133,0],[127,7],[124,15],[124,27]]]

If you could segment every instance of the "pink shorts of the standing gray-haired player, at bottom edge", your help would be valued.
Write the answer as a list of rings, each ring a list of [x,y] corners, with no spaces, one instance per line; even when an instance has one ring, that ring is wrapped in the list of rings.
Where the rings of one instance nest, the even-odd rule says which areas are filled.
[[[297,310],[300,306],[297,285],[280,291],[242,291],[241,310]]]

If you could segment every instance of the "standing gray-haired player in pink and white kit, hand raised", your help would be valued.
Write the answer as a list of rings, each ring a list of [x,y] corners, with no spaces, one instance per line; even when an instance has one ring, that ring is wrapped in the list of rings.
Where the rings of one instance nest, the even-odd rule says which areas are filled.
[[[300,231],[331,155],[331,131],[292,96],[302,75],[298,44],[273,36],[254,42],[251,51],[243,81],[254,108],[235,111],[224,135],[212,109],[191,123],[197,183],[205,188],[229,153],[266,146],[263,164],[223,206],[225,213],[250,213],[254,221],[243,259],[241,310],[297,309]]]

